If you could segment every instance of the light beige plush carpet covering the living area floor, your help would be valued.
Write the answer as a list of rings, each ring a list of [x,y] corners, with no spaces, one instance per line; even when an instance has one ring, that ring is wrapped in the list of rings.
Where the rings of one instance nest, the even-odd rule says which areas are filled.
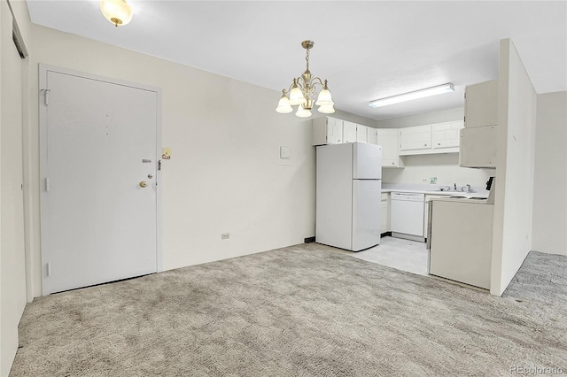
[[[36,298],[10,375],[567,373],[565,271],[531,252],[496,297],[297,245]]]

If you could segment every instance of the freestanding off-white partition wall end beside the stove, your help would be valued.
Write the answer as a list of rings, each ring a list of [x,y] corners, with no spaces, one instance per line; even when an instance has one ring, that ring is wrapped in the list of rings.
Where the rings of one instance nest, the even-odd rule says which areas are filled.
[[[500,296],[532,248],[537,95],[514,44],[500,45],[491,289]]]

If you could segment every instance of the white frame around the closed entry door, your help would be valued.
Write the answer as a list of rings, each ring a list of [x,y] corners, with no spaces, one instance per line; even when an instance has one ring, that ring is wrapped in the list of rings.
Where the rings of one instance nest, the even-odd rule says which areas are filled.
[[[62,68],[54,65],[45,65],[43,63],[39,64],[39,91],[38,91],[38,106],[39,106],[39,193],[40,193],[40,235],[43,231],[43,215],[46,213],[46,201],[43,200],[43,193],[45,192],[45,177],[47,176],[47,106],[44,104],[45,99],[45,88],[47,88],[47,73],[63,73],[71,76],[77,76],[89,80],[103,81],[111,84],[122,85],[130,88],[138,88],[142,90],[148,90],[155,92],[157,96],[156,103],[156,151],[155,158],[158,162],[156,169],[156,266],[157,272],[163,271],[163,250],[162,250],[162,235],[163,235],[163,223],[162,223],[162,190],[161,190],[161,88],[154,87],[151,85],[146,85],[138,82],[125,81],[120,79],[115,79],[111,77],[106,77],[94,73],[84,73],[80,71],[75,71],[72,69]],[[43,239],[40,236],[40,239]],[[40,284],[42,286],[42,295],[45,295],[43,289],[43,278],[47,274],[47,267],[43,264],[43,242],[40,242],[40,256],[41,256],[41,276]]]

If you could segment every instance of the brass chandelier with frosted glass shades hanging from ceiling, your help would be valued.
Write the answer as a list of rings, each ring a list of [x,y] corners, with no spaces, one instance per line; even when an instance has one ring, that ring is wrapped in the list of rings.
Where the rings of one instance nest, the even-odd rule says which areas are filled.
[[[309,50],[313,48],[315,42],[303,41],[301,46],[307,50],[307,69],[298,78],[293,79],[290,88],[282,90],[282,97],[277,104],[276,112],[287,114],[293,111],[291,105],[298,105],[298,111],[295,113],[300,118],[308,118],[311,116],[311,109],[313,104],[319,106],[317,109],[324,114],[332,114],[335,112],[333,107],[333,100],[330,96],[329,88],[327,88],[327,81],[322,81],[318,77],[313,77],[309,71]],[[320,86],[321,91],[317,95],[316,87]],[[289,93],[289,97],[288,97]]]

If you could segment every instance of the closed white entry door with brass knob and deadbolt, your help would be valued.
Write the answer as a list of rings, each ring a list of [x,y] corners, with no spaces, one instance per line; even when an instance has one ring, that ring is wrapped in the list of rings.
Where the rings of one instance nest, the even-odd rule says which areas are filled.
[[[155,273],[159,93],[41,74],[43,295]]]

